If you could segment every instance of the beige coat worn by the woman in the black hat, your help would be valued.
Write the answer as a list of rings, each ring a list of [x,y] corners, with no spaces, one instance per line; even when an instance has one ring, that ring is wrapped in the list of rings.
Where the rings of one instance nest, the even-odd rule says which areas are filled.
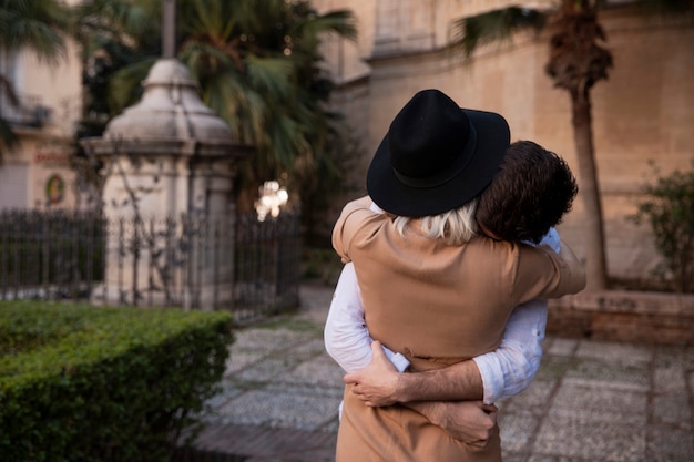
[[[551,251],[486,237],[450,246],[422,236],[417,222],[402,238],[369,205],[368,198],[347,204],[333,245],[354,261],[369,332],[414,370],[489,352],[513,307],[581,288]],[[474,450],[407,408],[364,405],[348,386],[337,461],[500,461],[496,433],[486,450]]]

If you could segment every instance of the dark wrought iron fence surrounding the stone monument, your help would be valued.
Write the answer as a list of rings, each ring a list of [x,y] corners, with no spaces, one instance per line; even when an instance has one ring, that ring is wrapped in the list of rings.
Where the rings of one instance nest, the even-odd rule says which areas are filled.
[[[0,212],[0,299],[228,309],[239,324],[298,305],[297,214],[105,220]]]

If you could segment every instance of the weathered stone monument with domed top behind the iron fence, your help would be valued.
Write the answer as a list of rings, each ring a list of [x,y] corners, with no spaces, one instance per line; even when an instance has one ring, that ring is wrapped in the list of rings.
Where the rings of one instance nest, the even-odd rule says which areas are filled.
[[[201,239],[229,236],[235,165],[251,146],[202,103],[177,60],[157,61],[143,85],[142,100],[102,137],[82,140],[103,161],[110,223],[104,283],[94,294],[101,300],[94,301],[212,308],[232,294],[233,238],[214,250]],[[184,217],[192,222],[183,224]]]

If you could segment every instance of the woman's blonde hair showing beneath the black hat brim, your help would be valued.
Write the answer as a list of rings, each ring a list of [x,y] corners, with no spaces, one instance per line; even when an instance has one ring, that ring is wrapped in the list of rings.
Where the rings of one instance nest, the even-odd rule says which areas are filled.
[[[472,199],[462,207],[421,218],[421,229],[425,236],[432,239],[440,238],[450,245],[465,244],[477,235],[476,211],[477,199]],[[412,219],[407,216],[395,218],[394,226],[400,236],[405,237],[405,230]]]

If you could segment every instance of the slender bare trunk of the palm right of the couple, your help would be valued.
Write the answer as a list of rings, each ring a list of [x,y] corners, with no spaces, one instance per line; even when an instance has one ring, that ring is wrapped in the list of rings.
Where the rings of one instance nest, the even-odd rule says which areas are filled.
[[[573,141],[579,162],[579,195],[584,207],[586,290],[608,286],[602,206],[598,186],[598,167],[593,145],[593,129],[589,90],[571,93]]]

